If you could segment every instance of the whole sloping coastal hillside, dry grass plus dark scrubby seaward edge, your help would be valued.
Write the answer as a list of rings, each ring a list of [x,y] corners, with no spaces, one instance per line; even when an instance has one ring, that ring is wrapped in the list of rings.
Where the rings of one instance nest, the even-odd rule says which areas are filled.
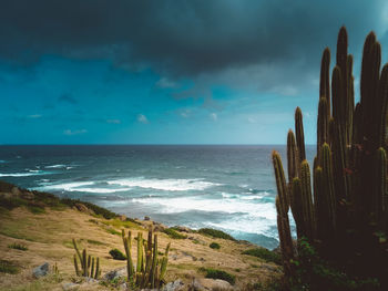
[[[185,227],[167,228],[151,219],[129,218],[90,202],[61,199],[52,194],[21,189],[0,180],[0,252],[3,260],[20,269],[18,274],[3,274],[0,271],[0,291],[13,290],[13,287],[21,284],[42,283],[31,278],[31,271],[44,262],[58,266],[63,282],[78,280],[71,263],[74,253],[72,238],[82,248],[88,248],[90,253],[100,257],[102,277],[112,270],[122,270],[125,261],[113,260],[109,254],[114,248],[123,250],[120,231],[131,230],[134,236],[143,232],[145,237],[150,225],[160,238],[161,250],[167,243],[172,245],[166,276],[169,282],[180,279],[188,289],[193,280],[205,280],[203,270],[211,268],[235,278],[236,283],[231,287],[233,290],[245,290],[247,284],[257,281],[264,283],[282,276],[278,263],[252,252],[265,250],[264,248],[235,240],[225,232],[212,229],[196,231]],[[14,243],[25,246],[28,250],[10,249]],[[136,253],[134,245],[133,253]],[[213,249],[211,245],[221,248]],[[269,250],[265,252],[276,254]],[[50,288],[42,290],[55,290],[53,285],[61,285],[62,281],[50,281]],[[80,290],[111,290],[88,288]]]

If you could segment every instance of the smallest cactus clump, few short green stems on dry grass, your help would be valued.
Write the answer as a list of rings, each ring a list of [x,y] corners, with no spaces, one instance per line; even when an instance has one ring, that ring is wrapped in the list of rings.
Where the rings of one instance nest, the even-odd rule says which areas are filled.
[[[101,276],[100,258],[94,258],[90,254],[88,256],[86,249],[83,249],[81,253],[76,246],[75,239],[73,239],[73,247],[75,250],[73,258],[75,274],[80,277],[99,279]],[[81,269],[79,268],[78,261],[80,261]]]

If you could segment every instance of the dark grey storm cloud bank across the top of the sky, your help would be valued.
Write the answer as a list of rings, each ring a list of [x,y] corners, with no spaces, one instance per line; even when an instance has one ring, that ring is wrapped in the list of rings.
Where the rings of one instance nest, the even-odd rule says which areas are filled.
[[[0,3],[0,58],[109,59],[171,79],[252,65],[303,72],[335,43],[341,24],[360,48],[381,25],[382,8],[384,1],[350,0],[8,0]]]

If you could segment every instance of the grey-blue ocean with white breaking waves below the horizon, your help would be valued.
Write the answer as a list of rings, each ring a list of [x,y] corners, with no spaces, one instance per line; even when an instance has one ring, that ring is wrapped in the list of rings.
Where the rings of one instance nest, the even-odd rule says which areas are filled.
[[[273,249],[273,149],[286,170],[285,145],[0,146],[0,179],[132,218],[221,229]],[[312,160],[315,147],[306,152]]]

